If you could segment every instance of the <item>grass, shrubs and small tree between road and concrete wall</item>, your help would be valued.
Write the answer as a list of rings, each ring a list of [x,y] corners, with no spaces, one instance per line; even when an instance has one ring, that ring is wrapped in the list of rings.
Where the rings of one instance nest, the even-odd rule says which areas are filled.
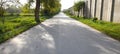
[[[79,1],[77,3],[75,3],[75,5],[67,10],[64,10],[63,12],[66,13],[68,16],[70,16],[73,19],[76,19],[84,24],[87,24],[99,31],[101,31],[102,33],[120,41],[120,23],[112,23],[112,22],[106,22],[106,21],[101,21],[98,20],[97,17],[94,18],[87,18],[84,16],[83,13],[83,17],[79,17],[80,15],[80,10],[84,11],[84,2],[83,1]],[[73,12],[71,12],[71,9],[73,9]]]

